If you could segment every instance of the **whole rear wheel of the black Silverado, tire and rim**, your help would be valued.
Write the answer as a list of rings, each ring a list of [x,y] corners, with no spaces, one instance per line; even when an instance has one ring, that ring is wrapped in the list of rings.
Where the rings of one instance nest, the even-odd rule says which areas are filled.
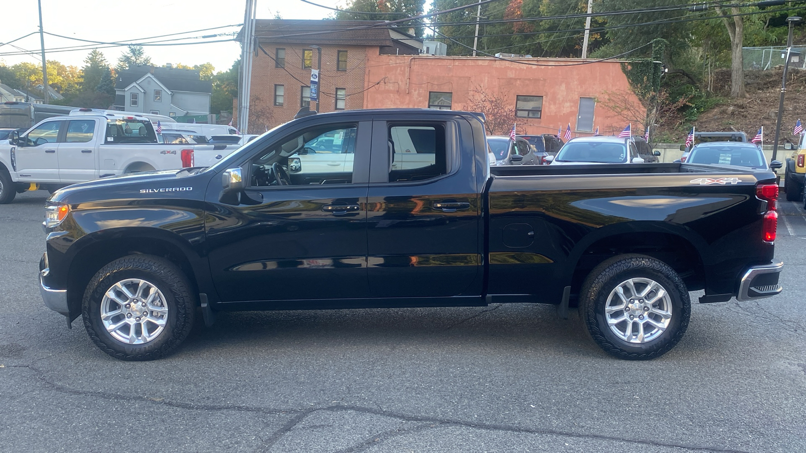
[[[650,256],[605,260],[585,279],[580,319],[596,344],[620,359],[654,359],[683,338],[688,289],[674,269]]]

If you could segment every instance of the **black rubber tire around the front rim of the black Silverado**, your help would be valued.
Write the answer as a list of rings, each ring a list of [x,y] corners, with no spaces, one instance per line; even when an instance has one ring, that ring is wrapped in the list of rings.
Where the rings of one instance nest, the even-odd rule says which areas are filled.
[[[111,292],[114,285],[134,280],[145,281],[148,285],[159,290],[158,294],[161,297],[156,300],[159,306],[167,307],[167,314],[160,315],[155,313],[151,311],[150,306],[146,310],[133,304],[135,308],[128,310],[129,305],[126,305],[127,308],[124,309],[123,304],[118,304],[114,300],[104,303],[106,293]],[[89,338],[102,351],[115,359],[159,359],[177,348],[193,328],[196,298],[193,297],[193,292],[190,288],[191,285],[189,285],[185,274],[168,260],[149,255],[124,256],[112,261],[110,264],[106,264],[89,281],[81,304],[81,314],[84,318],[85,329],[89,334]],[[152,290],[152,293],[156,292]],[[121,292],[120,294],[123,293]],[[135,297],[137,296],[138,294],[135,293]],[[136,298],[129,299],[129,301],[132,300],[140,302]],[[123,318],[143,317],[144,321],[139,328],[134,325],[129,327],[129,329],[134,330],[134,332],[128,331],[129,336],[132,333],[136,336],[139,332],[139,336],[142,338],[145,330],[152,330],[153,333],[153,331],[160,329],[160,327],[155,327],[156,324],[153,322],[148,322],[148,326],[145,327],[147,317],[156,319],[155,322],[161,322],[164,319],[164,326],[162,326],[161,331],[155,334],[155,338],[148,339],[142,344],[124,343],[122,339],[114,338],[103,324],[102,308],[108,310],[110,303],[116,304],[113,306],[118,306],[120,310],[127,312],[125,315],[116,315],[118,318],[110,318],[111,322],[123,321]],[[147,314],[142,314],[143,312],[147,312]],[[135,319],[139,321],[140,318]],[[125,328],[126,326],[123,327]],[[126,333],[118,330],[116,330],[118,335]]]

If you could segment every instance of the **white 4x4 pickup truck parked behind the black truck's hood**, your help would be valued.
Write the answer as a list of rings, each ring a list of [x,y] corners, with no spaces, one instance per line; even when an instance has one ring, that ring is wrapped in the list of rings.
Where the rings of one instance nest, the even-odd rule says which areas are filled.
[[[210,166],[237,148],[158,143],[151,121],[139,115],[48,118],[0,142],[0,204],[29,189],[54,191],[123,173]]]

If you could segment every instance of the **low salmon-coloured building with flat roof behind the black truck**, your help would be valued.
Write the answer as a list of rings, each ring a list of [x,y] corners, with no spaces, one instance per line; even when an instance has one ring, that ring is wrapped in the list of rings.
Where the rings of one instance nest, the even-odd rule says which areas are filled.
[[[628,120],[606,106],[607,97],[627,97],[640,106],[621,61],[517,59],[431,55],[368,55],[364,107],[431,107],[473,110],[486,91],[513,113],[518,134],[618,134]],[[533,65],[533,64],[540,64]],[[635,135],[642,127],[633,124]]]

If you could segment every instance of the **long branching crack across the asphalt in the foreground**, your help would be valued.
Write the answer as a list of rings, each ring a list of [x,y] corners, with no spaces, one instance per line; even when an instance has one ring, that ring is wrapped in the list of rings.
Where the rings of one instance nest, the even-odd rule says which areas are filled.
[[[81,397],[98,397],[106,400],[144,402],[154,405],[165,405],[176,409],[191,409],[202,411],[234,411],[234,412],[243,412],[251,414],[268,414],[268,415],[294,414],[293,417],[289,419],[288,422],[285,422],[285,424],[281,426],[280,429],[276,430],[265,441],[264,448],[261,449],[261,451],[265,452],[268,452],[280,440],[280,438],[282,438],[285,434],[288,434],[289,431],[293,430],[295,426],[297,426],[300,422],[305,420],[305,418],[307,418],[310,414],[314,414],[319,411],[325,411],[325,412],[357,412],[359,414],[370,414],[386,418],[395,418],[397,420],[405,422],[420,422],[433,425],[427,427],[420,426],[420,430],[433,429],[434,427],[437,426],[459,426],[462,428],[472,428],[476,430],[490,430],[490,431],[510,432],[518,434],[543,434],[543,435],[564,436],[570,438],[586,438],[586,439],[606,440],[612,442],[634,443],[650,447],[669,447],[669,448],[688,449],[694,451],[711,451],[714,453],[751,453],[750,451],[733,450],[723,447],[706,447],[702,445],[694,445],[686,443],[663,443],[652,440],[644,440],[640,438],[621,438],[617,436],[609,436],[603,434],[584,434],[563,430],[530,429],[530,428],[522,428],[519,426],[502,425],[495,423],[465,422],[463,420],[451,419],[451,418],[438,418],[438,417],[418,416],[410,414],[400,414],[389,410],[378,410],[354,405],[331,405],[331,406],[323,406],[318,408],[314,407],[306,409],[267,409],[263,407],[255,407],[247,405],[195,405],[190,403],[181,403],[177,401],[166,401],[164,398],[131,397],[121,395],[118,393],[101,392],[97,390],[90,391],[90,390],[69,389],[68,387],[62,384],[56,384],[52,380],[49,380],[44,375],[44,372],[42,370],[36,368],[33,365],[6,365],[6,368],[20,368],[34,372],[37,374],[36,378],[39,381],[46,384],[50,389],[52,389],[55,392],[65,393],[68,395],[75,395]],[[376,434],[374,438],[380,438],[379,437],[380,435],[385,435],[386,438],[395,437],[393,436],[393,431],[384,431],[381,434]],[[351,448],[358,448],[362,446],[369,447],[369,444],[365,441],[364,443],[360,443]],[[365,449],[366,448],[364,448],[364,450]],[[354,450],[346,450],[345,453],[347,452],[351,453],[352,451]],[[355,451],[357,452],[362,450],[355,450]]]

